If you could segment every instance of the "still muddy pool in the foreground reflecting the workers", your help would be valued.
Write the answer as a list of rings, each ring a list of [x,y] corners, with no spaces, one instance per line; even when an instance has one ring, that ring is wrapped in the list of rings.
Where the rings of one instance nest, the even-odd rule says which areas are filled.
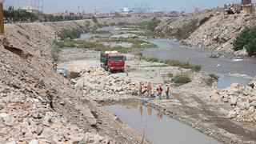
[[[141,134],[145,132],[146,139],[155,144],[221,143],[152,108],[138,105],[114,105],[106,108],[134,130]]]

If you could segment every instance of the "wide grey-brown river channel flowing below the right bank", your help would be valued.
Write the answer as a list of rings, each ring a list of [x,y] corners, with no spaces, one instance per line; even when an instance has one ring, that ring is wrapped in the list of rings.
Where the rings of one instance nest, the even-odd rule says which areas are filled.
[[[256,76],[255,58],[237,58],[230,54],[225,54],[225,58],[209,58],[208,56],[213,50],[195,49],[168,39],[145,40],[158,45],[159,49],[147,49],[144,52],[144,56],[200,64],[202,71],[219,76],[219,89],[226,88],[234,82],[239,82],[242,86],[250,82],[248,78],[237,78],[229,76],[228,74],[246,74],[250,77]]]

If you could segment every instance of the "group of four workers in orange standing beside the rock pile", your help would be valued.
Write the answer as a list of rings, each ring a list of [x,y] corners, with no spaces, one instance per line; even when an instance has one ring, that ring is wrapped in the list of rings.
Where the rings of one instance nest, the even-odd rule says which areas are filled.
[[[143,90],[143,88],[145,90]],[[166,99],[170,99],[170,86],[169,84],[166,84],[165,87],[165,93],[166,93]],[[162,84],[159,84],[157,89],[157,96],[159,99],[162,99]],[[151,82],[148,82],[146,86],[144,86],[144,84],[142,84],[142,82],[139,82],[139,95],[145,94],[147,92],[148,96],[150,97],[152,95],[152,85]]]

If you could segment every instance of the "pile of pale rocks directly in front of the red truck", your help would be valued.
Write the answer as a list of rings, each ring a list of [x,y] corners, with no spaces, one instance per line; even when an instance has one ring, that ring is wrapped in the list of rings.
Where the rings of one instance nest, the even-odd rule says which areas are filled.
[[[81,77],[72,80],[75,86],[86,92],[97,91],[107,94],[138,94],[138,82],[118,74],[110,74],[102,68],[88,67],[81,72]]]

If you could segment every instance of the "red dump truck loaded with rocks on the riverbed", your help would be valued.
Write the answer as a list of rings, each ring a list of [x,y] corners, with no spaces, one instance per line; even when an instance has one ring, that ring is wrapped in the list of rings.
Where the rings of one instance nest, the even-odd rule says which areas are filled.
[[[124,71],[126,66],[126,56],[118,51],[101,52],[101,66],[107,71]]]

